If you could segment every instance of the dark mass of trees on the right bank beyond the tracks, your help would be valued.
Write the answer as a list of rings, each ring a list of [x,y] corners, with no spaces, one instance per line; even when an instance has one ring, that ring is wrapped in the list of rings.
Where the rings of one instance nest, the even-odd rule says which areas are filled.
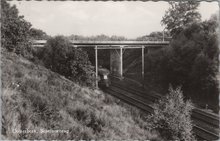
[[[165,90],[169,84],[182,86],[185,96],[200,96],[206,104],[218,107],[217,27],[215,16],[208,21],[192,23],[176,35],[170,47],[149,53],[146,79]]]

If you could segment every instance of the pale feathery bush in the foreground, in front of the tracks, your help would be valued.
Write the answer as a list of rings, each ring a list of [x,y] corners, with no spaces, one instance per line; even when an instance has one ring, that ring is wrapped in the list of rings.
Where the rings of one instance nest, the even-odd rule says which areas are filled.
[[[192,103],[184,102],[180,88],[169,89],[169,94],[154,105],[154,113],[147,117],[151,130],[165,140],[194,140],[192,134]]]

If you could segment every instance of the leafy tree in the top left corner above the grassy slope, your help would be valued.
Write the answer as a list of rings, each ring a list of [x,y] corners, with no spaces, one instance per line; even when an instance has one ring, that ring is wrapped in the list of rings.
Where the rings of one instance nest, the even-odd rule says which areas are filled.
[[[18,9],[1,1],[1,39],[2,47],[17,54],[28,55],[31,52],[29,30],[31,24],[18,15]]]

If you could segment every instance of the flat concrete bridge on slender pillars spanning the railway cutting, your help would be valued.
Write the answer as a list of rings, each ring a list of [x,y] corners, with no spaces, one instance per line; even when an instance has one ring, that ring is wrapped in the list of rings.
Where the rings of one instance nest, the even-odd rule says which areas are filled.
[[[34,40],[33,47],[44,47],[46,40]],[[169,41],[71,41],[75,48],[90,47],[95,50],[96,78],[98,77],[98,50],[110,50],[110,72],[113,76],[123,79],[123,53],[126,49],[141,49],[142,77],[144,78],[144,50],[148,52],[166,47]],[[96,86],[98,82],[96,82]]]

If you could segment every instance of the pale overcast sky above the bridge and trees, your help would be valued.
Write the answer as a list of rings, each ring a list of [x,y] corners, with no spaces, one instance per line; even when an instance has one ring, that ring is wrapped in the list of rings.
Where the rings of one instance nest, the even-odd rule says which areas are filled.
[[[118,35],[136,38],[162,31],[167,2],[12,1],[20,15],[49,35]],[[202,19],[217,13],[217,2],[201,2]]]

